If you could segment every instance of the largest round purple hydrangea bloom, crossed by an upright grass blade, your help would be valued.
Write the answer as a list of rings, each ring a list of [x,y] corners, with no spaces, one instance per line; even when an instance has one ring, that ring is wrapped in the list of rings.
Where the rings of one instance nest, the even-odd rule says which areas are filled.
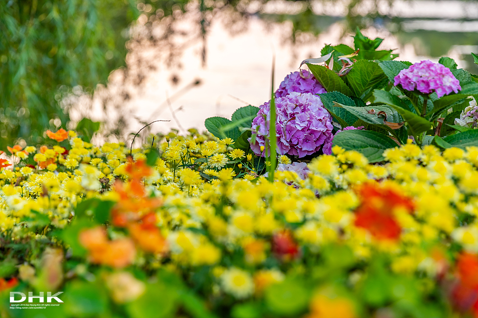
[[[256,142],[251,144],[252,151],[265,156],[269,136],[270,101],[260,106],[257,117],[252,120],[252,132],[257,134]],[[276,99],[277,152],[302,158],[320,150],[332,137],[332,117],[323,107],[320,97],[311,93],[291,92]],[[250,138],[249,138],[250,142]],[[330,153],[329,153],[330,154]]]

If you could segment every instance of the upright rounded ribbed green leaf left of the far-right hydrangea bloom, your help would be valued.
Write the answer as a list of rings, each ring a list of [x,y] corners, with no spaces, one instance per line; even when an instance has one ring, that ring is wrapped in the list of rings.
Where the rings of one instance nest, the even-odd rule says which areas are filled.
[[[367,96],[375,88],[382,88],[388,79],[379,64],[367,60],[359,60],[353,64],[347,75],[347,82],[355,96],[367,100]]]

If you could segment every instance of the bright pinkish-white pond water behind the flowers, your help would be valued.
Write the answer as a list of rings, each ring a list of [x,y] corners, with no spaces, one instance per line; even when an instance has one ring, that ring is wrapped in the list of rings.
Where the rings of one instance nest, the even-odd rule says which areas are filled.
[[[400,54],[398,60],[418,62],[431,59],[436,62],[439,56],[448,55],[457,61],[459,67],[473,69],[473,64],[464,56],[471,51],[478,52],[477,2],[394,3],[392,7],[384,6],[381,9],[390,16],[390,20],[383,21],[382,26],[375,25],[363,30],[364,35],[384,38],[380,48],[396,49],[394,53]],[[300,10],[287,5],[276,2],[275,6],[271,4],[264,11],[267,14],[280,14],[284,10],[289,13]],[[230,29],[225,27],[228,16],[224,14],[214,19],[208,28],[205,63],[201,61],[202,40],[188,43],[182,50],[179,63],[172,68],[166,67],[164,60],[158,57],[161,48],[136,45],[132,49],[137,53],[134,58],[147,60],[151,66],[141,84],[130,85],[128,96],[121,99],[120,107],[108,109],[101,96],[106,93],[118,95],[125,85],[129,85],[122,80],[122,71],[113,72],[108,86],[97,89],[88,116],[112,122],[118,118],[114,112],[122,112],[124,132],[137,131],[143,123],[158,119],[170,121],[153,124],[152,132],[166,132],[170,128],[184,132],[191,127],[204,129],[204,120],[208,117],[230,118],[241,106],[259,106],[270,99],[273,56],[276,59],[274,86],[277,88],[287,74],[298,69],[300,61],[319,57],[325,44],[353,44],[353,39],[344,35],[340,8],[335,7],[334,12],[330,8],[329,11],[326,9],[319,4],[314,7],[318,21],[327,21],[324,31],[313,40],[309,37],[295,44],[291,44],[288,37],[291,23],[266,22],[264,18],[253,16],[248,19],[245,30],[231,35]],[[321,16],[324,13],[329,16]],[[393,20],[397,16],[400,17],[399,23]],[[185,15],[184,21],[179,24],[186,33],[192,30],[192,17]],[[393,33],[387,31],[396,28],[400,30]],[[129,68],[134,70],[136,61],[132,60],[132,56],[127,62]],[[176,80],[173,81],[173,78]],[[192,84],[195,81],[196,84]],[[85,112],[82,113],[85,115]],[[78,118],[79,114],[73,110],[72,119]]]

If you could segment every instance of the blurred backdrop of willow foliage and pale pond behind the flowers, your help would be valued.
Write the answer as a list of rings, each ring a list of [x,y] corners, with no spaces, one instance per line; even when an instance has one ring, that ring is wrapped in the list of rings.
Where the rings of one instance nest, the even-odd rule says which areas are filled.
[[[82,118],[96,142],[203,130],[269,99],[273,56],[277,87],[357,28],[397,60],[478,73],[478,0],[0,0],[0,147]]]

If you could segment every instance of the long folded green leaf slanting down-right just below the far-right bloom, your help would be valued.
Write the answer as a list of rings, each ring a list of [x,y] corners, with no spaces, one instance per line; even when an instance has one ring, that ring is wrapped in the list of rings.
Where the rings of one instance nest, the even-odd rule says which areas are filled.
[[[417,136],[418,134],[427,131],[432,127],[432,123],[430,121],[405,109],[407,106],[401,103],[399,97],[378,89],[374,91],[374,96],[376,102],[380,101],[390,105],[403,117],[403,119],[405,119],[412,135]]]

